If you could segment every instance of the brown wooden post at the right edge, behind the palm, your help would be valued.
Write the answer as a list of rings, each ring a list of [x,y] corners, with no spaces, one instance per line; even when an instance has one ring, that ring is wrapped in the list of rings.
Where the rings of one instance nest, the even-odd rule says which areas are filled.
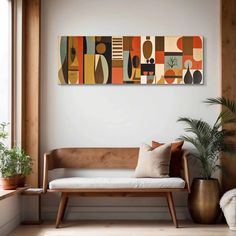
[[[236,1],[221,1],[222,96],[236,101]],[[236,141],[235,141],[236,142]],[[234,155],[235,156],[235,155]],[[222,175],[223,191],[236,186],[236,158],[221,158],[227,175]]]

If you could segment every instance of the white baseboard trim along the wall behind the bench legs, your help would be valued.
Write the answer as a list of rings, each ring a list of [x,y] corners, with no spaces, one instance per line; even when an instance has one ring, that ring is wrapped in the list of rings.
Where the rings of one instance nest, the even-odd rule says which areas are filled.
[[[190,219],[187,207],[176,207],[180,220]],[[42,219],[54,220],[56,207],[43,207]],[[121,207],[121,206],[69,206],[65,218],[68,220],[170,220],[167,207]]]

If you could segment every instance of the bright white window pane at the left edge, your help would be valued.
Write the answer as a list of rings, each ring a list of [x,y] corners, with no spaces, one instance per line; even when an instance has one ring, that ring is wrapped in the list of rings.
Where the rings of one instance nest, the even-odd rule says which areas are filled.
[[[11,111],[11,1],[0,1],[0,122],[10,122]]]

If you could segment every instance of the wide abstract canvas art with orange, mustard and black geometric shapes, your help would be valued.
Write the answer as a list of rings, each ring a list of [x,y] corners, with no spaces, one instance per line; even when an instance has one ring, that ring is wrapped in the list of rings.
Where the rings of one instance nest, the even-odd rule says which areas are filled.
[[[59,37],[59,84],[203,84],[201,36]]]

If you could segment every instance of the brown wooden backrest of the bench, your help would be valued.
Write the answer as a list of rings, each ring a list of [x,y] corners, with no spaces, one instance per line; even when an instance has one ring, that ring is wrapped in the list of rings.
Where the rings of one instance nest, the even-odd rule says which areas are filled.
[[[134,169],[139,148],[60,148],[50,155],[48,169]]]

